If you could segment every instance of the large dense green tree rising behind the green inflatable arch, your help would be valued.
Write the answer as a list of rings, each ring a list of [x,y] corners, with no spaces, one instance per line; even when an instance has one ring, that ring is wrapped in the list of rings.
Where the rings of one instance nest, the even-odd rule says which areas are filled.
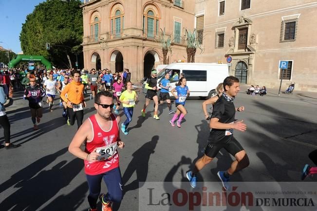
[[[23,53],[42,55],[58,67],[72,68],[76,55],[82,53],[81,4],[80,0],[39,3],[22,24],[20,42]],[[47,42],[50,50],[46,49]]]

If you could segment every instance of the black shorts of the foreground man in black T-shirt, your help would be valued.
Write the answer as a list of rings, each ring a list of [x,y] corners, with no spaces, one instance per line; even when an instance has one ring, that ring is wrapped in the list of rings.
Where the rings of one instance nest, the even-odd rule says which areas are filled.
[[[214,158],[222,148],[224,148],[232,156],[235,156],[236,153],[239,153],[243,150],[243,147],[237,141],[237,139],[235,139],[233,135],[230,135],[226,141],[208,141],[208,145],[205,149],[205,155]]]

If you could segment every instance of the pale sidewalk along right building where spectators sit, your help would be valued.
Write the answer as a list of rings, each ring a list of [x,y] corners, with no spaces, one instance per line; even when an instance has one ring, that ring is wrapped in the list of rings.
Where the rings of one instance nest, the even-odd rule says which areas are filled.
[[[248,85],[241,85],[240,86],[240,93],[246,94],[246,91],[248,89]],[[306,99],[306,100],[316,100],[317,101],[317,93],[316,92],[305,92],[305,91],[296,91],[296,89],[293,91],[293,94],[284,94],[285,90],[280,91],[278,89],[267,89],[266,96],[275,96],[280,98],[293,98],[293,99]],[[265,97],[265,96],[263,96]]]

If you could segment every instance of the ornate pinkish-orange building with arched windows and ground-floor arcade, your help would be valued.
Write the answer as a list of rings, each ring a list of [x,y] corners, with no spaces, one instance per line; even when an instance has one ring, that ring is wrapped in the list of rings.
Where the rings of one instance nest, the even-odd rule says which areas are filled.
[[[112,73],[128,68],[132,81],[149,77],[163,64],[164,29],[171,36],[168,63],[186,59],[184,35],[186,29],[193,30],[194,6],[194,1],[183,0],[85,0],[85,68],[108,68]]]

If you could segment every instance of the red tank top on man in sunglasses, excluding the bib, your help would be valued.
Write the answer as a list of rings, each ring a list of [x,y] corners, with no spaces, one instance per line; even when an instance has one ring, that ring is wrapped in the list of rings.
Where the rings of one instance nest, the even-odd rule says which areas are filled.
[[[111,115],[112,126],[109,131],[104,131],[100,128],[95,115],[91,115],[89,120],[93,127],[93,139],[89,142],[87,141],[86,153],[91,153],[97,147],[105,147],[117,141],[119,126],[115,115]],[[84,160],[84,163],[85,173],[88,175],[105,173],[119,167],[119,155],[116,153],[111,158],[103,161],[89,162]]]

